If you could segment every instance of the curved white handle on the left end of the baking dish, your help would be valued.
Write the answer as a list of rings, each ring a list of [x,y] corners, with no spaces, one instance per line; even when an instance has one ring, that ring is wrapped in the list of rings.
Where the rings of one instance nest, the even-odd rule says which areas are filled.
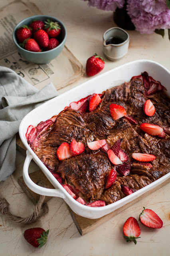
[[[43,196],[57,196],[59,198],[65,198],[65,195],[59,190],[59,189],[52,189],[52,188],[46,188],[46,187],[40,187],[36,183],[30,179],[30,176],[28,174],[28,167],[30,165],[30,162],[32,160],[32,155],[26,151],[26,159],[23,166],[23,179],[26,183],[26,185],[35,193]]]

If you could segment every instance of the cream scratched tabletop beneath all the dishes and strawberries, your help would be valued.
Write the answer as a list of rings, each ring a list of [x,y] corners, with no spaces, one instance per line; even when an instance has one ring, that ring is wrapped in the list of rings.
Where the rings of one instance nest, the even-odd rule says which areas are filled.
[[[1,0],[0,8],[12,2]],[[108,28],[115,26],[113,13],[89,8],[81,0],[34,0],[43,14],[49,14],[62,20],[67,28],[66,45],[81,62],[85,63],[95,52],[103,56],[102,36]],[[128,54],[121,60],[111,62],[105,58],[104,73],[114,67],[137,59],[150,59],[159,62],[170,70],[170,42],[167,33],[164,39],[157,34],[140,35],[128,31],[130,45]],[[101,74],[100,73],[100,74]],[[77,82],[59,90],[63,93],[88,78],[84,75]],[[10,203],[10,210],[20,216],[32,213],[34,205],[18,185],[17,179],[22,175],[24,156],[17,153],[16,171],[0,183],[0,197]],[[38,170],[31,163],[30,172]],[[170,234],[170,184],[158,189],[140,202],[127,208],[126,211],[107,221],[85,236],[80,236],[71,218],[68,207],[61,198],[52,198],[49,202],[49,213],[40,222],[30,225],[17,225],[0,215],[0,256],[168,256]],[[142,225],[137,244],[127,243],[123,238],[123,224],[128,217],[138,219],[142,207],[154,210],[163,220],[160,230],[150,230]],[[45,246],[36,249],[24,239],[24,230],[33,227],[49,229]]]

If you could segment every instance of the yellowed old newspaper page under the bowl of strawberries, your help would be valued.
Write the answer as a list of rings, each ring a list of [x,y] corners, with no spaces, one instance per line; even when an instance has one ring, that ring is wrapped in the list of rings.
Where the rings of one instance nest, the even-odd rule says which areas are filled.
[[[39,65],[24,59],[13,42],[14,27],[24,18],[35,15],[33,9],[36,8],[29,8],[22,1],[14,1],[0,10],[0,65],[12,69],[37,89],[50,82],[56,89],[63,88],[84,73],[82,65],[66,46],[54,60]]]

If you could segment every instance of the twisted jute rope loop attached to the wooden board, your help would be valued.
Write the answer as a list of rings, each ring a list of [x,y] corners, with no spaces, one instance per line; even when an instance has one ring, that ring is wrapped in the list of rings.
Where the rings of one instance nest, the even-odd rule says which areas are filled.
[[[40,185],[40,184],[38,184]],[[42,184],[41,184],[42,185]],[[45,199],[45,196],[41,196],[40,195],[40,199],[37,202],[33,213],[26,217],[20,217],[20,216],[16,216],[12,213],[10,213],[9,211],[9,206],[10,204],[7,202],[7,200],[5,198],[0,198],[0,212],[6,216],[8,216],[8,218],[12,221],[12,222],[16,222],[19,224],[29,224],[32,222],[36,222],[38,220],[40,220],[41,218],[45,217],[45,215],[47,215],[48,213],[48,205],[45,203],[43,204]]]

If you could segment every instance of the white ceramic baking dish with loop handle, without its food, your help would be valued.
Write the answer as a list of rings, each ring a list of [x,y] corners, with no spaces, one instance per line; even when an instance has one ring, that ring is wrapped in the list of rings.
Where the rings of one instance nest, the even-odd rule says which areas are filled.
[[[106,73],[99,75],[71,89],[70,91],[67,91],[66,93],[63,93],[62,95],[59,95],[58,97],[47,101],[46,103],[44,103],[40,107],[37,107],[24,117],[19,129],[20,138],[27,149],[27,156],[23,167],[23,177],[26,185],[32,191],[44,196],[56,196],[63,198],[63,200],[76,214],[79,214],[80,216],[86,218],[96,219],[106,214],[109,214],[119,208],[122,208],[129,202],[132,202],[139,196],[153,190],[155,187],[159,186],[161,183],[170,178],[170,173],[168,173],[160,179],[147,185],[146,187],[143,187],[142,189],[139,189],[133,194],[107,206],[99,208],[84,206],[82,204],[79,204],[65,191],[65,189],[59,184],[57,179],[55,179],[55,177],[50,173],[45,165],[43,165],[42,161],[40,161],[40,159],[36,156],[34,151],[32,151],[26,141],[26,131],[29,125],[36,126],[41,121],[45,121],[51,118],[53,115],[58,114],[64,109],[65,106],[68,106],[69,103],[71,103],[72,101],[77,101],[93,93],[102,93],[106,89],[109,89],[115,85],[121,85],[124,81],[130,81],[131,77],[135,75],[140,75],[140,73],[144,71],[147,71],[151,77],[153,77],[157,81],[160,81],[160,83],[166,87],[166,89],[168,90],[168,94],[170,95],[170,72],[162,65],[154,61],[135,60],[110,71],[107,71]],[[53,184],[55,189],[40,187],[30,179],[28,175],[28,167],[32,159],[34,159],[34,161],[39,165],[39,167],[42,169],[43,173],[49,179],[49,181]]]

